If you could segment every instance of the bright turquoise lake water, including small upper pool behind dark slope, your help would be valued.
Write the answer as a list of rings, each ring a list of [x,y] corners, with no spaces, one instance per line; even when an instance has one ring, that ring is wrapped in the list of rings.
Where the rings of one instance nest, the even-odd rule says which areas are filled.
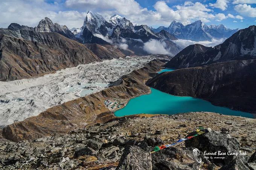
[[[173,71],[163,69],[158,72]],[[233,116],[253,118],[253,114],[231,110],[226,107],[212,105],[210,102],[189,96],[174,96],[151,88],[151,93],[131,99],[128,104],[115,111],[115,116],[126,116],[131,114],[177,114],[190,111],[209,111]]]

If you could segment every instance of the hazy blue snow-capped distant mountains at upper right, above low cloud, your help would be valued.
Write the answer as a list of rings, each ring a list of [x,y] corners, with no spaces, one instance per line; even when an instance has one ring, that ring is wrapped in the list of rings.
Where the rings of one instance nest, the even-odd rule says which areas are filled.
[[[165,30],[173,34],[178,39],[187,39],[192,41],[212,41],[212,39],[229,38],[238,29],[228,29],[226,26],[220,24],[207,26],[201,20],[194,23],[180,23],[178,21],[172,21],[169,27],[158,27],[153,29],[154,32],[160,32]]]

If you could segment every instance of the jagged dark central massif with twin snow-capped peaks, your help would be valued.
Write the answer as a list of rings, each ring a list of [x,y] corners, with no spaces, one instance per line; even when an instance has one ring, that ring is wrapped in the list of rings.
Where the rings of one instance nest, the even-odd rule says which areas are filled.
[[[119,44],[127,44],[137,55],[148,54],[142,49],[144,43],[150,39],[169,41],[166,43],[166,49],[174,55],[181,50],[172,42],[176,39],[174,35],[163,32],[156,34],[146,25],[133,26],[133,23],[119,15],[113,15],[108,22],[101,15],[88,11],[79,31],[76,37],[83,43],[111,44],[116,47],[119,47]]]

